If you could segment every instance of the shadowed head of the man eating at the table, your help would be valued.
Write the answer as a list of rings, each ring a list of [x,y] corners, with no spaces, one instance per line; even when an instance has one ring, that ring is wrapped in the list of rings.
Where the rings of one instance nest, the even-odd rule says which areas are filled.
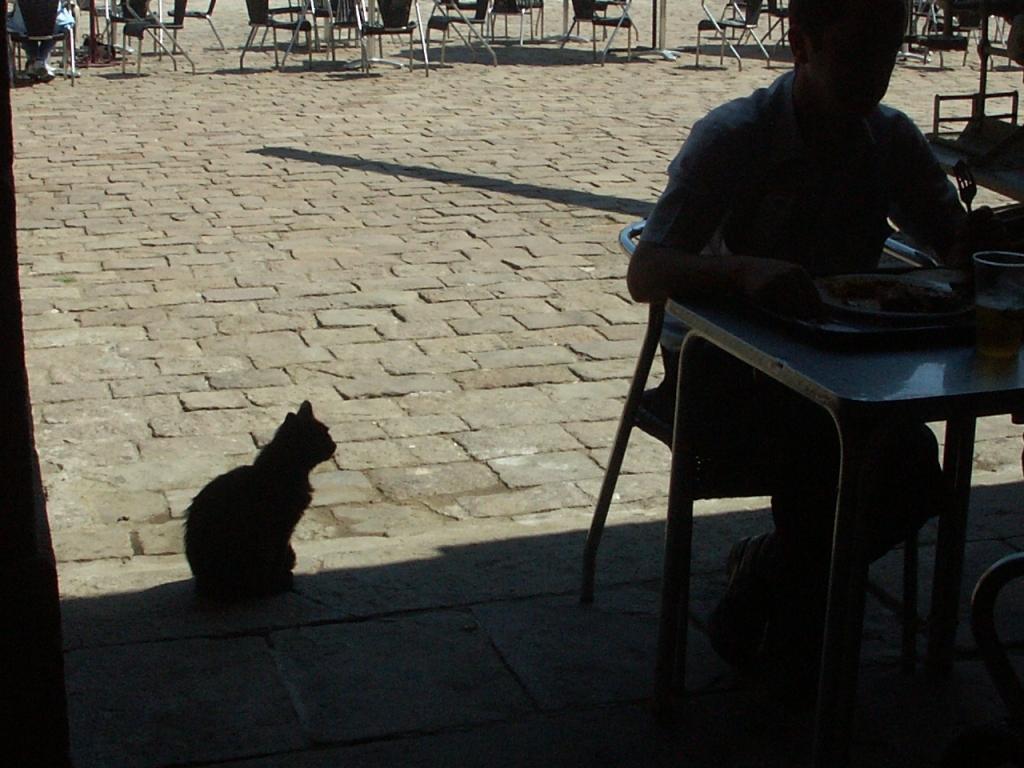
[[[791,0],[790,46],[805,95],[837,118],[882,100],[906,27],[904,0]]]

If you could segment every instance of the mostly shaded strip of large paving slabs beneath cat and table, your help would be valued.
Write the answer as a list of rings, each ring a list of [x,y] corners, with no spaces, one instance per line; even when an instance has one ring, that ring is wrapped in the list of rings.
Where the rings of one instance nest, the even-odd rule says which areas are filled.
[[[810,714],[737,679],[701,631],[730,543],[768,524],[766,510],[696,518],[690,695],[668,723],[647,703],[659,521],[606,530],[593,605],[577,597],[585,534],[529,525],[317,542],[293,592],[231,607],[200,603],[181,558],[72,575],[97,593],[62,601],[75,764],[800,765]],[[969,545],[966,583],[996,544],[1012,551]],[[899,594],[885,562],[872,577]],[[1002,717],[970,652],[947,677],[901,673],[896,624],[869,596],[855,765],[932,765],[959,729]]]

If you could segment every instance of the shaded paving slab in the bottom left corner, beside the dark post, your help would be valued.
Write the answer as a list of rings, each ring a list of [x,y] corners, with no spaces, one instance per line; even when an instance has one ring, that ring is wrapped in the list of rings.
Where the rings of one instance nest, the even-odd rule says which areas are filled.
[[[82,768],[226,760],[304,743],[262,638],[92,648],[68,653],[66,665],[72,752]]]

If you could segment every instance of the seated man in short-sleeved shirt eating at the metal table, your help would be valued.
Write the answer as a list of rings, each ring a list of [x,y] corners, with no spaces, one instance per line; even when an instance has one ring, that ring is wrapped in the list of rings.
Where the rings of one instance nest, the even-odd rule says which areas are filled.
[[[953,185],[910,119],[880,104],[904,5],[792,0],[794,70],[693,126],[631,260],[634,299],[718,296],[813,316],[820,301],[812,278],[874,268],[889,219],[946,263],[966,263],[974,226]],[[670,317],[663,335],[669,414],[685,331]],[[698,453],[756,467],[772,490],[774,531],[730,552],[713,645],[783,691],[806,692],[824,621],[835,426],[817,406],[715,349],[687,368],[686,392],[706,415]],[[937,443],[924,425],[893,424],[876,454],[861,483],[872,558],[945,500]]]

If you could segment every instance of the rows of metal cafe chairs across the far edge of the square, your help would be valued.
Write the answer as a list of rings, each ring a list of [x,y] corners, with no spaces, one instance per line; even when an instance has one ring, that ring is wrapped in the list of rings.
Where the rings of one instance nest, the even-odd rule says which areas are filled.
[[[65,0],[23,0],[23,5],[49,7],[59,2]],[[474,59],[479,54],[482,60],[495,65],[499,56],[493,46],[499,43],[502,47],[513,44],[562,48],[589,42],[594,60],[601,63],[609,60],[609,53],[612,61],[630,61],[636,47],[638,55],[654,54],[667,60],[692,55],[693,66],[698,69],[701,54],[713,55],[716,49],[719,67],[724,66],[728,55],[739,69],[748,58],[760,58],[770,66],[773,56],[784,62],[787,54],[788,12],[784,0],[700,0],[695,26],[673,30],[672,36],[681,41],[671,46],[666,44],[666,0],[653,0],[649,8],[633,0],[563,0],[560,5],[549,0],[547,32],[544,0],[245,2],[249,30],[241,44],[240,69],[244,68],[246,52],[254,47],[271,50],[278,69],[286,67],[293,53],[307,67],[312,66],[314,55],[328,56],[334,63],[364,73],[372,63],[400,67],[397,58],[383,57],[383,40],[387,39],[392,47],[404,48],[410,70],[423,69],[429,74],[431,35],[439,46],[435,65],[444,63],[450,42],[467,47]],[[186,19],[189,26],[200,20],[207,23],[217,45],[224,49],[214,22],[217,0],[193,0],[190,5],[188,0],[82,0],[72,2],[72,6],[78,19],[77,32],[72,36],[76,50],[66,51],[68,41],[61,41],[61,55],[66,59],[62,69],[70,68],[76,77],[76,54],[84,68],[105,67],[117,60],[124,65],[134,57],[135,71],[140,73],[142,56],[151,51],[160,58],[167,56],[174,70],[181,55],[195,73],[186,49]],[[972,6],[949,14],[947,23],[939,0],[908,0],[908,8],[906,58],[925,65],[937,58],[944,67],[944,54],[954,51],[963,53],[959,63],[966,65],[972,46],[980,39],[979,9]],[[993,14],[990,22],[984,25],[988,39],[1005,55],[1009,22],[998,14]],[[38,24],[46,26],[42,16]],[[181,41],[179,33],[183,35]],[[33,34],[49,33],[35,30]],[[642,43],[647,36],[650,46]],[[377,56],[370,55],[374,42]],[[345,54],[340,61],[339,47]],[[293,67],[297,63],[293,60]]]

